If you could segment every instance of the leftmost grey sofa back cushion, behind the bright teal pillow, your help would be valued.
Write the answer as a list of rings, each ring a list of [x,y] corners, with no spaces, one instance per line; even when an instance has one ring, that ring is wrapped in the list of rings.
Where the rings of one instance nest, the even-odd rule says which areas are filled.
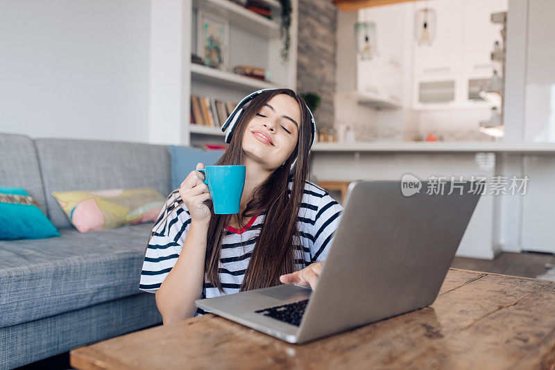
[[[46,201],[33,139],[0,134],[0,186],[24,188],[46,215]]]

